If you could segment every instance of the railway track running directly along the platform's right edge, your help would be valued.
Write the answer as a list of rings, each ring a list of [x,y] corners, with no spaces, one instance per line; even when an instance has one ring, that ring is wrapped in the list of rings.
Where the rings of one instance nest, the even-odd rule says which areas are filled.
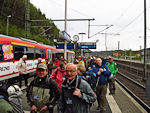
[[[136,80],[119,72],[116,81],[148,112],[150,113],[150,99],[145,86]]]

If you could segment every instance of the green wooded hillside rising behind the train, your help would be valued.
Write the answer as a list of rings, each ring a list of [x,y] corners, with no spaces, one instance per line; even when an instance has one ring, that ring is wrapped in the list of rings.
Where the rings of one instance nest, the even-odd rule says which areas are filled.
[[[25,37],[25,2],[26,0],[0,0],[0,34],[6,35],[7,16],[9,18],[9,36]],[[40,9],[30,4],[30,20],[47,20],[45,22],[32,22],[29,39],[54,45],[53,38],[59,36],[59,29],[53,21],[47,19]],[[38,27],[42,26],[42,27]],[[49,27],[43,27],[49,26]],[[51,28],[47,30],[48,28]],[[44,32],[47,30],[46,32]]]

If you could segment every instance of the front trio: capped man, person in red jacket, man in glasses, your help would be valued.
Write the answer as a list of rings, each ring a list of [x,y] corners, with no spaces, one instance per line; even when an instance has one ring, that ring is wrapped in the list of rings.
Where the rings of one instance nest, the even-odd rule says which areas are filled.
[[[27,87],[27,100],[33,113],[89,113],[96,94],[90,85],[78,76],[78,66],[60,62],[48,75],[48,67],[38,64],[37,77]]]

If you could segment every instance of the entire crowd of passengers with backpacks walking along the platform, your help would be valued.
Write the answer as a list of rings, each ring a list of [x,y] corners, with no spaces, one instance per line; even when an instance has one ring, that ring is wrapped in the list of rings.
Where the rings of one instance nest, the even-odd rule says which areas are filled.
[[[24,65],[26,58],[24,55],[18,66],[22,64],[26,66]],[[113,59],[111,57],[108,61],[104,59],[105,63],[96,57],[91,57],[88,62],[79,57],[75,63],[66,63],[66,60],[61,59],[54,63],[57,66],[53,65],[52,73],[49,72],[49,63],[40,61],[34,79],[29,84],[25,80],[31,113],[53,113],[55,105],[58,113],[90,113],[96,99],[98,110],[105,113],[108,83],[110,94],[115,93],[114,82],[118,69]],[[22,69],[20,73],[21,79],[27,74],[24,71]],[[110,78],[112,74],[114,77]]]

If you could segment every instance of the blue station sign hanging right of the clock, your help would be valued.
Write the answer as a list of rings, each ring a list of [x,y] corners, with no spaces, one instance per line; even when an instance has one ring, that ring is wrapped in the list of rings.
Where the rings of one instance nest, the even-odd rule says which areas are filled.
[[[78,49],[96,49],[96,42],[79,42]]]

